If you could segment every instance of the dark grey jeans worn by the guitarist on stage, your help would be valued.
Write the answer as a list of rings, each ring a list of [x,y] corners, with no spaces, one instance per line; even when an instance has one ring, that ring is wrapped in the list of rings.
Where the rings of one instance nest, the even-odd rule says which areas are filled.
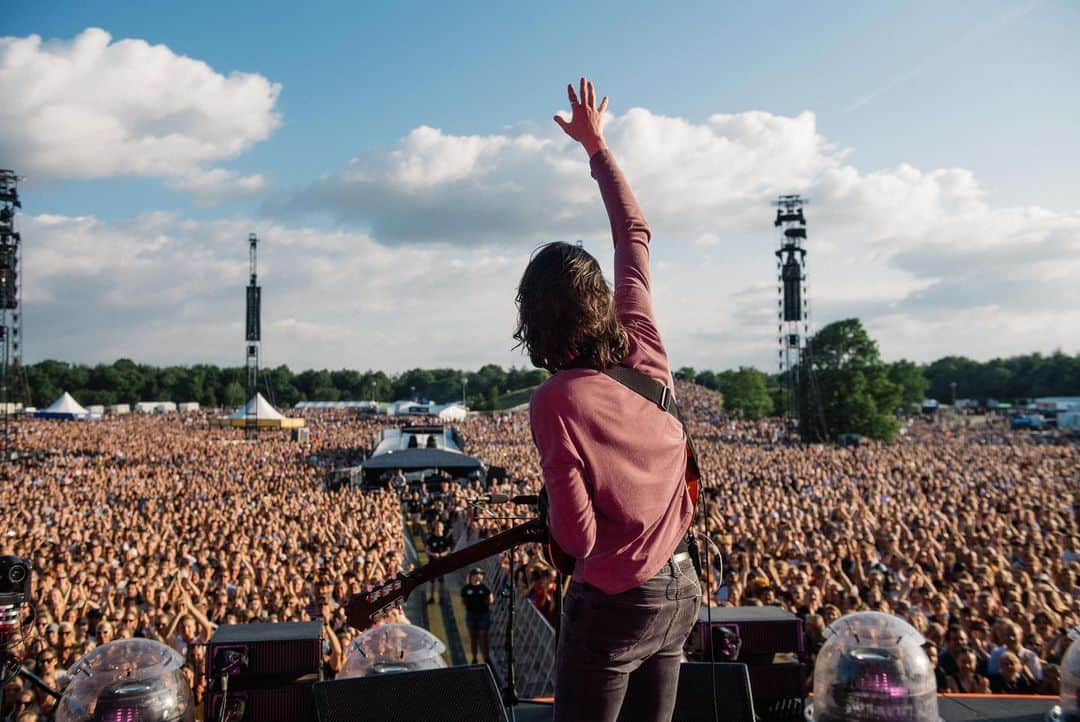
[[[555,722],[670,722],[700,599],[689,559],[617,595],[573,582],[555,656]]]

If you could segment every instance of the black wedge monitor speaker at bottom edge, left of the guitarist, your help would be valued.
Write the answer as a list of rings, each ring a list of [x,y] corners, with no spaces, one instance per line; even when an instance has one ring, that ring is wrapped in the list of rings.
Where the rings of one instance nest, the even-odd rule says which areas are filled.
[[[487,665],[318,682],[319,722],[507,722]]]

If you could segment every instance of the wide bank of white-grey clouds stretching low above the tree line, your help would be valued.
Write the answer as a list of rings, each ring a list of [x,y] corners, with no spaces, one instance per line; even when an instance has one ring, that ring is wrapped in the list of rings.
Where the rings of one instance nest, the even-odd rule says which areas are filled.
[[[789,192],[812,199],[815,326],[860,316],[888,358],[1080,351],[1067,304],[1078,213],[995,207],[963,168],[859,169],[810,112],[693,122],[636,108],[606,134],[652,224],[656,308],[676,366],[773,367],[769,203]],[[265,182],[204,167],[171,182],[203,195]],[[27,218],[28,357],[239,363],[249,231],[265,241],[267,360],[295,367],[524,364],[510,351],[513,297],[536,244],[583,239],[610,268],[584,154],[554,125],[420,126],[266,209],[288,223],[314,209],[341,230],[285,215]]]

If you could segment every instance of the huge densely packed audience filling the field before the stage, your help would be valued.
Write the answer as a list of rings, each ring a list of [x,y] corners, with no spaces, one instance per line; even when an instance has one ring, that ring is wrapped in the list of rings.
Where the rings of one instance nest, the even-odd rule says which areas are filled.
[[[895,614],[926,637],[943,691],[1056,692],[1080,623],[1076,446],[915,421],[888,445],[804,447],[778,422],[725,419],[707,390],[679,395],[705,478],[704,603],[783,607],[805,619],[811,655],[842,614]],[[27,667],[62,686],[95,645],[147,637],[185,656],[201,695],[217,625],[321,619],[333,675],[356,634],[349,597],[406,563],[403,510],[414,532],[442,521],[468,543],[511,523],[471,498],[540,486],[527,416],[513,413],[458,424],[465,451],[498,468],[492,489],[327,491],[327,472],[389,422],[308,414],[302,442],[245,442],[207,414],[14,423],[0,554],[33,567]],[[552,575],[536,550],[517,554],[518,589],[550,615]],[[0,720],[18,722],[53,706],[21,679],[0,704]]]

